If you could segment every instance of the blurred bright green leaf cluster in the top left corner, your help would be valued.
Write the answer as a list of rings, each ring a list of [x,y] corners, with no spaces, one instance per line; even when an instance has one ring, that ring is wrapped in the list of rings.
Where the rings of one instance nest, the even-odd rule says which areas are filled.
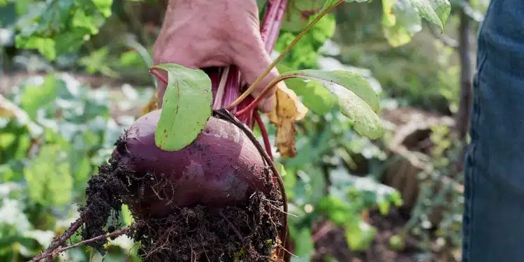
[[[47,59],[77,51],[98,34],[112,0],[17,0],[17,48],[36,49]]]

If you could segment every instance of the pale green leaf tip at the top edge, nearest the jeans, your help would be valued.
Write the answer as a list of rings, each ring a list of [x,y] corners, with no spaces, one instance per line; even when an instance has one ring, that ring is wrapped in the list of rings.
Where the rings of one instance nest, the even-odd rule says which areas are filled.
[[[451,13],[451,3],[448,0],[409,0],[419,10],[419,15],[426,20],[437,24],[444,30],[444,24]]]

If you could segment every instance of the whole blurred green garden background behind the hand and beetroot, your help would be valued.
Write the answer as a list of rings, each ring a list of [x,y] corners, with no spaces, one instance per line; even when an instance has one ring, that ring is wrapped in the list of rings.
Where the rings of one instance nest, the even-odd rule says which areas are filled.
[[[459,51],[474,53],[475,43],[451,47],[442,38],[460,38],[464,13],[474,35],[488,3],[451,2],[445,35],[416,20],[401,21],[412,27],[400,38],[391,33],[402,28],[384,18],[390,1],[344,4],[279,65],[361,73],[380,94],[388,128],[380,140],[357,136],[324,89],[303,94],[303,83],[287,82],[314,101],[297,124],[298,156],[277,159],[290,198],[293,261],[459,260],[464,141],[453,117]],[[27,261],[78,215],[89,176],[152,96],[147,68],[162,4],[0,0],[1,261]],[[275,52],[296,34],[284,24]],[[274,140],[269,124],[268,131]],[[126,212],[121,219],[131,221]],[[118,238],[104,261],[136,261],[135,252]],[[101,259],[87,247],[57,257]]]

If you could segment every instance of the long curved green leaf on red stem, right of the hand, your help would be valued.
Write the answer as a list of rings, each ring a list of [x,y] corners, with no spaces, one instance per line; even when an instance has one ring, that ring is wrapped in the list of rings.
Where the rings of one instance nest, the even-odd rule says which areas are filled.
[[[355,131],[367,138],[376,139],[383,135],[384,127],[377,115],[379,98],[370,83],[357,73],[335,70],[300,70],[282,73],[279,79],[304,78],[319,82],[339,102],[342,114],[349,117]],[[307,86],[306,86],[307,87]],[[305,103],[306,106],[310,106]]]

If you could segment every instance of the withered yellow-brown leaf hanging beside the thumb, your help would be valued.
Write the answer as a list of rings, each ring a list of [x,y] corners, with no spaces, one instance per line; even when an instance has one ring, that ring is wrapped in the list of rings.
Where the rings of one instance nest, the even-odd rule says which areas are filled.
[[[268,117],[277,129],[277,150],[284,158],[296,157],[295,122],[305,117],[307,108],[284,82],[277,84],[276,96],[277,106],[268,113]]]

